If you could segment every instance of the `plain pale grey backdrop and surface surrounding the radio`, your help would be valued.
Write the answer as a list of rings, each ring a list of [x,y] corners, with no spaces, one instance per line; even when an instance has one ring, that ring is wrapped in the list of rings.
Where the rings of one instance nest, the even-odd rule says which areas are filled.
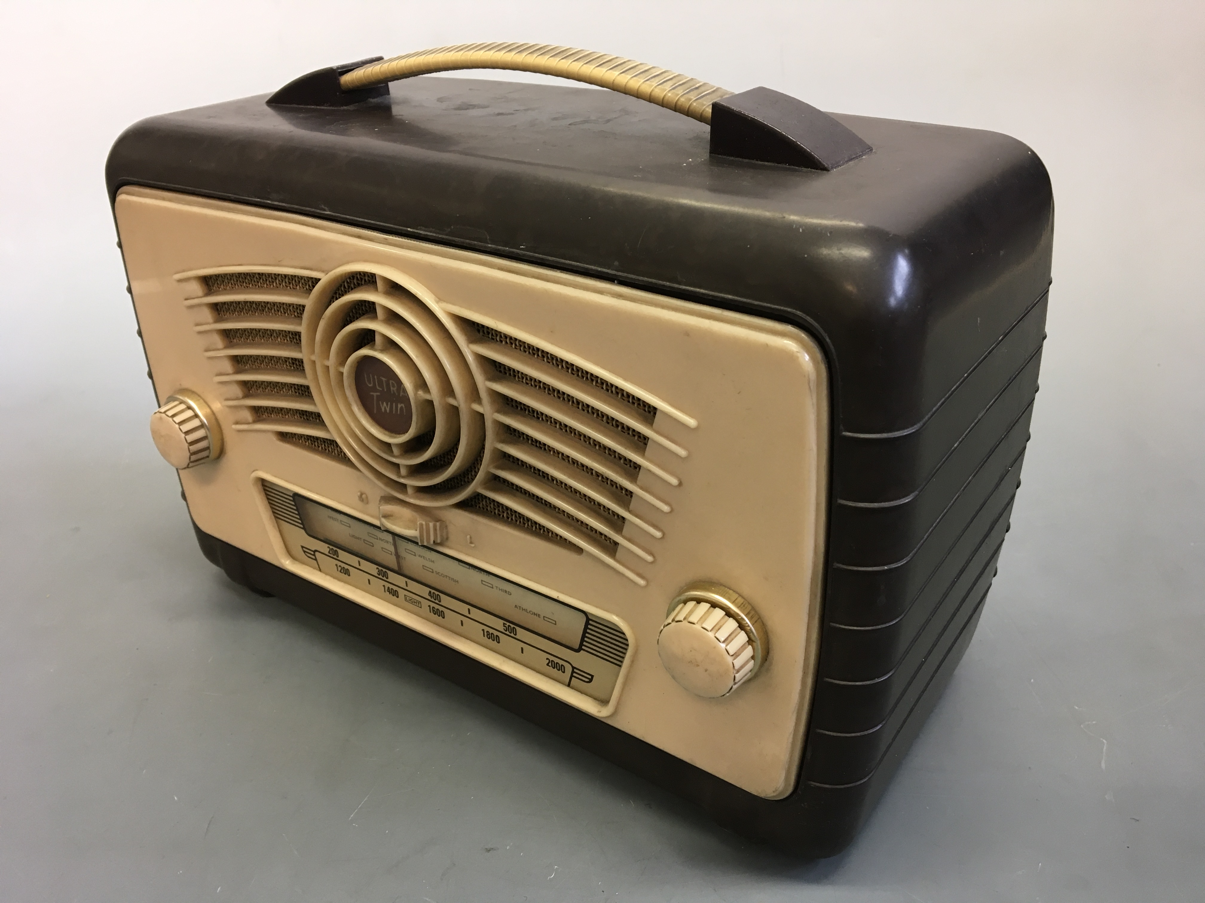
[[[1205,12],[1195,2],[6,4],[0,898],[1205,896]],[[102,163],[318,65],[592,47],[1005,131],[1057,195],[1024,485],[982,624],[845,855],[792,862],[229,584],[155,455]]]

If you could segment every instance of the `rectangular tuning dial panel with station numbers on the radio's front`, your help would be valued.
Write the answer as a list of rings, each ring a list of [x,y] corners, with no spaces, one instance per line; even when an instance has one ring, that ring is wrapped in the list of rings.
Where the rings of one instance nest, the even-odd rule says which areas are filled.
[[[289,556],[599,702],[628,654],[611,621],[264,482]]]

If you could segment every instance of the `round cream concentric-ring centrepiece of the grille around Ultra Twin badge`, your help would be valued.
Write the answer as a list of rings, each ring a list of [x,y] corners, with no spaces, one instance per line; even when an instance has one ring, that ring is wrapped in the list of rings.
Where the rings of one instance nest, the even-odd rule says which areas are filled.
[[[488,478],[481,453],[496,427],[484,373],[422,285],[357,265],[331,271],[310,295],[301,352],[328,429],[377,485],[442,506]]]

